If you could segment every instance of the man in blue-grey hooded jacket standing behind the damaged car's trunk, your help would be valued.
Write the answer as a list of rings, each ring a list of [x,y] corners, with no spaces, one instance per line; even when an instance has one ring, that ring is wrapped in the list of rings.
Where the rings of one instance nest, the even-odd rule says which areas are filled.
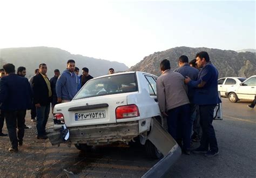
[[[67,69],[59,76],[56,83],[57,102],[69,102],[77,94],[79,84],[75,74],[75,60],[68,60]]]

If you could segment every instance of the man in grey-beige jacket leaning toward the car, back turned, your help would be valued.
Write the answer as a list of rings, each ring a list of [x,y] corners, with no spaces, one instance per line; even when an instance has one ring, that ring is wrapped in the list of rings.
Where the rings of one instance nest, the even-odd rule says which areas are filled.
[[[157,99],[160,111],[167,117],[168,131],[179,142],[183,139],[183,152],[190,154],[190,101],[184,77],[170,71],[170,61],[160,63],[161,76],[157,79]],[[179,142],[179,145],[180,142]]]

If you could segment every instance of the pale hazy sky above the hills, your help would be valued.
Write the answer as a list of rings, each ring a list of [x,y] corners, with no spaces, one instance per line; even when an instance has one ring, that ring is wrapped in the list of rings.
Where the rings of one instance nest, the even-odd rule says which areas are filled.
[[[0,49],[58,47],[133,66],[177,46],[256,49],[255,1],[0,1]]]

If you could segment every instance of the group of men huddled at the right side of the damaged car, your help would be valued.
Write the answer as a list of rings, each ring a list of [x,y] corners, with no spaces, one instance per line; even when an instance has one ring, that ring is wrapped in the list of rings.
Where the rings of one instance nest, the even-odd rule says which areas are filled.
[[[215,156],[219,149],[212,121],[214,108],[221,102],[218,70],[205,51],[197,53],[190,63],[187,56],[180,56],[178,65],[172,72],[170,61],[164,59],[157,79],[157,98],[160,111],[167,118],[168,131],[185,154],[190,154],[193,140],[200,141],[200,146],[192,150],[194,153]]]

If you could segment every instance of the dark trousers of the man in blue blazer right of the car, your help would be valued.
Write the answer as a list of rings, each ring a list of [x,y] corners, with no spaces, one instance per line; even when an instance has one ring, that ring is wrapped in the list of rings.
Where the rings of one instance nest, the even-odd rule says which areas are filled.
[[[199,105],[200,125],[203,131],[200,147],[208,150],[210,146],[212,151],[218,152],[217,139],[212,125],[215,106],[216,105]]]

